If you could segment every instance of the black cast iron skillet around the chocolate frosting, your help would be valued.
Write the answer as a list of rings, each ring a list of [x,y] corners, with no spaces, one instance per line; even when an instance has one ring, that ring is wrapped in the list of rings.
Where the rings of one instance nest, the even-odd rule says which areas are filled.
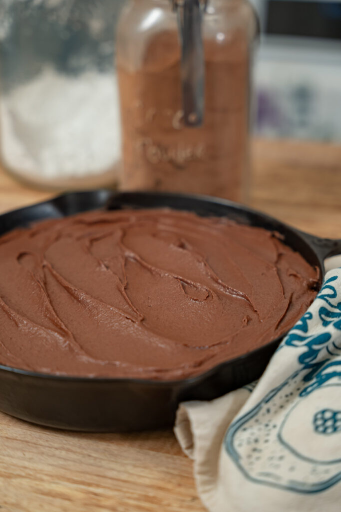
[[[241,224],[278,231],[324,277],[323,261],[341,252],[341,240],[321,239],[238,204],[198,196],[115,193],[95,190],[66,194],[0,216],[0,235],[42,219],[96,208],[157,208],[228,217]],[[210,400],[260,377],[280,338],[223,362],[193,378],[158,382],[127,378],[79,378],[39,374],[0,366],[0,410],[42,425],[81,431],[136,431],[171,425],[177,404]]]

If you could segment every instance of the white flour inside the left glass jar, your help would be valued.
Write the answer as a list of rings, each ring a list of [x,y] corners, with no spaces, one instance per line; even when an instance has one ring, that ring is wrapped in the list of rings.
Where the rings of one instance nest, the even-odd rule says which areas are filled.
[[[58,184],[112,172],[121,157],[115,73],[44,68],[2,96],[1,144],[5,165],[24,178]]]

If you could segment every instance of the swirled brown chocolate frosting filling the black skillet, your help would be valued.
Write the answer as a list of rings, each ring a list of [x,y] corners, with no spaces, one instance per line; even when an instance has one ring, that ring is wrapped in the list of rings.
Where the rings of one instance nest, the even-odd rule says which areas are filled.
[[[278,234],[168,209],[92,211],[0,238],[0,363],[180,379],[267,344],[316,294]]]

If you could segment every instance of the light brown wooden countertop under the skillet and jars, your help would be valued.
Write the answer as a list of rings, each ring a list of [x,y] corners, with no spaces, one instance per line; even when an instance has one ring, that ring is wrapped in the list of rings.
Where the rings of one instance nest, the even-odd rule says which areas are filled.
[[[341,146],[257,140],[252,205],[341,238]],[[53,194],[0,170],[0,211]],[[192,462],[171,430],[78,434],[0,413],[0,512],[199,512]]]

